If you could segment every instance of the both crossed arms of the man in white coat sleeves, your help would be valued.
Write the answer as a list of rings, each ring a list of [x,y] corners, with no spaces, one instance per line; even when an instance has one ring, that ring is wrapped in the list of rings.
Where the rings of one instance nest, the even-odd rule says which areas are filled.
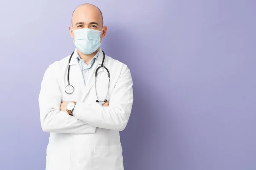
[[[41,127],[45,132],[85,134],[95,133],[96,127],[124,130],[133,103],[132,79],[130,70],[122,70],[111,94],[110,102],[104,105],[77,102],[70,116],[66,104],[61,104],[61,90],[54,74],[53,65],[45,71],[39,94]]]

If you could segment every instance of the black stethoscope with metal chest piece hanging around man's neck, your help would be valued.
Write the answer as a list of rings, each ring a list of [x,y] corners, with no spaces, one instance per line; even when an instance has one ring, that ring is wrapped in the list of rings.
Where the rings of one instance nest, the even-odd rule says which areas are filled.
[[[70,60],[71,60],[71,58],[72,58],[74,52],[75,52],[75,51],[73,51],[73,53],[71,54],[68,64],[70,63]],[[108,92],[107,92],[107,95],[106,95],[106,99],[104,99],[103,101],[99,101],[99,99],[98,99],[97,88],[96,88],[96,79],[97,79],[97,72],[98,72],[98,70],[99,70],[100,68],[105,68],[105,70],[108,72],[108,90],[109,90],[109,82],[110,82],[110,75],[109,75],[108,68],[106,68],[105,65],[103,65],[104,60],[105,60],[105,52],[102,51],[102,53],[103,53],[102,64],[101,64],[101,65],[96,69],[96,71],[95,71],[95,92],[96,92],[96,97],[97,97],[97,100],[96,100],[97,103],[98,103],[98,102],[107,102],[107,101],[108,101],[108,100],[107,100]],[[67,70],[67,86],[66,86],[66,88],[65,88],[65,92],[66,92],[67,94],[73,94],[73,92],[74,92],[75,89],[74,89],[73,85],[70,85],[70,82],[69,82],[69,71],[70,71],[70,65],[68,65],[68,70]],[[102,72],[102,71],[101,71],[101,72]]]

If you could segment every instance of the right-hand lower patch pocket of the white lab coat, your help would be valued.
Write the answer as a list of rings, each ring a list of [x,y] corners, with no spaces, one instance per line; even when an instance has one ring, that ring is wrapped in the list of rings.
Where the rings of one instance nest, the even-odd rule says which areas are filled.
[[[124,170],[121,144],[94,147],[94,170]]]

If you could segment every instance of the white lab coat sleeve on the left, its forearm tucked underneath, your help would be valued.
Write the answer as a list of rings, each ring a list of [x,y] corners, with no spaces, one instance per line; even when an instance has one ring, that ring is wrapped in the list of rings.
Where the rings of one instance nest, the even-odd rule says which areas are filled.
[[[60,111],[62,94],[55,70],[57,69],[54,68],[53,64],[49,65],[41,82],[38,102],[43,131],[74,134],[95,133],[96,127]]]

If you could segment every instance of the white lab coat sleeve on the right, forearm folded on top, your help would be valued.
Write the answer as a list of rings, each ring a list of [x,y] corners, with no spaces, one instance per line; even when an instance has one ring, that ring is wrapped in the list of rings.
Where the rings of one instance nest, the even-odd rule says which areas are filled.
[[[109,106],[99,103],[77,102],[73,112],[77,119],[99,128],[119,130],[125,129],[133,104],[133,89],[130,70],[122,71],[109,99]]]

